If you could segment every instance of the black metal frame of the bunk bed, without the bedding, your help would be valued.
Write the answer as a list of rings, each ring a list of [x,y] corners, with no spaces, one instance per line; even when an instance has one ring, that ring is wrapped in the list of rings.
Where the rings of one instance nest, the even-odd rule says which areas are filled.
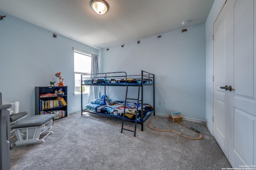
[[[108,76],[108,74],[122,74],[124,73],[125,75],[121,75],[121,76]],[[104,76],[99,76],[99,75],[104,75]],[[87,78],[90,78],[90,79],[98,79],[98,78],[113,78],[113,77],[122,77],[122,78],[125,78],[126,79],[126,83],[125,84],[83,84],[83,79],[87,79],[87,78],[84,78],[83,76],[90,76],[90,77],[87,77]],[[127,82],[127,78],[129,77],[132,77],[134,78],[134,76],[141,76],[141,83],[140,84],[128,84]],[[152,84],[143,84],[144,80],[149,80],[149,81],[152,81]],[[148,119],[148,117],[153,113],[153,115],[155,115],[155,75],[152,74],[152,73],[149,73],[149,72],[146,72],[146,71],[141,71],[141,75],[131,75],[131,76],[127,76],[126,72],[106,72],[106,73],[98,73],[98,74],[81,74],[81,115],[83,115],[83,112],[88,112],[88,113],[94,113],[94,114],[98,114],[98,115],[104,115],[104,116],[111,116],[111,115],[105,115],[105,114],[102,114],[102,113],[96,113],[94,111],[90,111],[88,109],[83,109],[83,94],[82,94],[82,86],[84,85],[88,85],[88,86],[104,86],[104,94],[106,94],[106,86],[126,86],[126,98],[125,98],[125,106],[124,108],[126,107],[126,100],[128,100],[127,98],[127,91],[128,91],[128,87],[129,86],[139,86],[141,88],[141,105],[142,105],[142,108],[143,108],[143,93],[144,93],[144,86],[153,86],[153,111],[145,118],[143,119],[144,117],[144,111],[142,109],[141,111],[141,121],[138,122],[138,124],[141,124],[141,131],[143,131],[143,123],[144,121],[146,121]],[[140,89],[139,88],[139,89]],[[138,95],[140,95],[140,90],[138,90]],[[125,113],[123,113],[125,114]],[[114,116],[112,116],[114,117]],[[121,119],[121,117],[115,117],[116,119]],[[126,119],[126,121],[130,121],[130,122],[135,122],[133,120],[129,120],[129,119]]]

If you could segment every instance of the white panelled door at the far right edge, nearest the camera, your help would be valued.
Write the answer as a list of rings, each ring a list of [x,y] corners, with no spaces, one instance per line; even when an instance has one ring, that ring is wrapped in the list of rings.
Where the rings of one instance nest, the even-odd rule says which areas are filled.
[[[234,168],[256,165],[256,1],[229,0],[228,160]],[[249,167],[256,168],[256,167]]]

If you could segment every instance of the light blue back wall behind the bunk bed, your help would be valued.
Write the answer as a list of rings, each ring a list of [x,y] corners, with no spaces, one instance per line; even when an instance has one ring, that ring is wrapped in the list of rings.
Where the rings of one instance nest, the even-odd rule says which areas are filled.
[[[162,33],[159,39],[157,35],[140,39],[140,44],[133,41],[109,51],[100,49],[100,72],[154,73],[156,113],[180,111],[184,117],[205,120],[205,24],[187,29]],[[110,98],[118,98],[112,91],[121,90],[108,89]]]

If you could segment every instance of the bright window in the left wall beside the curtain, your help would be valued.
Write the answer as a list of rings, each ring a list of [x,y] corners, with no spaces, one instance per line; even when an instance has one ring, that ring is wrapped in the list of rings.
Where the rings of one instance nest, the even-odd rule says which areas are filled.
[[[74,50],[75,94],[81,94],[81,74],[91,73],[91,54]],[[89,93],[89,86],[82,86],[83,93]]]

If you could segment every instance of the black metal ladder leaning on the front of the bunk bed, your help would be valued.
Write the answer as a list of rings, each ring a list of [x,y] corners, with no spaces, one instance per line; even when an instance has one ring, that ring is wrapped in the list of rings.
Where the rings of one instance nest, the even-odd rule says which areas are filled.
[[[137,127],[138,106],[139,106],[139,102],[141,101],[141,100],[139,100],[139,98],[140,98],[140,86],[138,86],[138,98],[137,99],[135,99],[135,98],[127,98],[127,92],[128,92],[128,85],[126,86],[126,98],[125,98],[125,104],[124,104],[124,113],[123,113],[123,118],[122,118],[122,130],[121,130],[121,133],[123,133],[123,129],[126,130],[126,131],[131,131],[131,132],[134,132],[134,137],[135,137],[136,136],[136,127]],[[134,128],[134,131],[130,130],[130,129],[124,128],[124,116],[126,114],[134,115],[134,112],[133,113],[129,113],[129,112],[125,111],[126,101],[127,100],[136,100],[137,101],[137,107],[136,107],[136,112],[135,112],[135,128]]]

